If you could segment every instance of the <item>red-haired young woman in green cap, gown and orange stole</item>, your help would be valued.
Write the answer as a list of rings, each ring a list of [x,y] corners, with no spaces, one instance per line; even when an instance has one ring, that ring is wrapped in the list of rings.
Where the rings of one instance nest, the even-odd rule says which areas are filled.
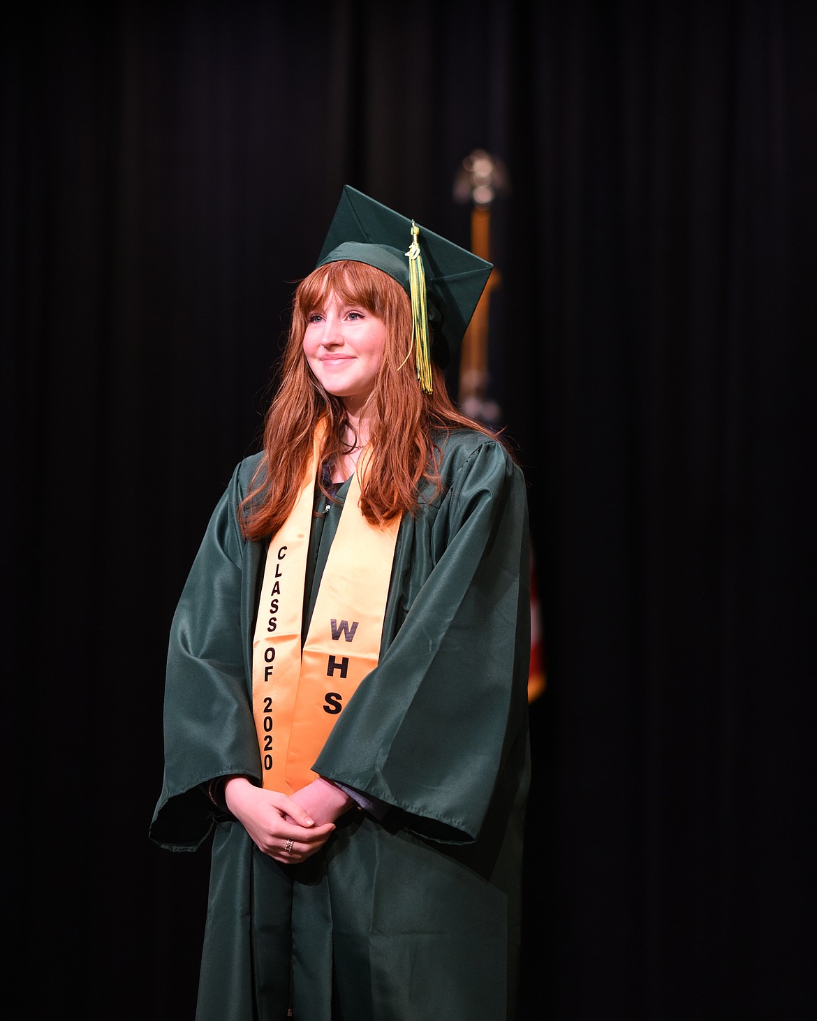
[[[171,637],[151,837],[213,833],[198,1021],[513,1016],[525,485],[434,363],[489,272],[347,187],[295,292]]]

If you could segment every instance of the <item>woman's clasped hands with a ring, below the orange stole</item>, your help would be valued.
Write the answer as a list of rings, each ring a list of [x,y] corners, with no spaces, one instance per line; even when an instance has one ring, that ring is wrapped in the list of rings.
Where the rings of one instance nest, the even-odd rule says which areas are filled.
[[[290,797],[234,776],[225,784],[224,795],[258,849],[283,865],[303,862],[323,847],[335,830],[335,820],[352,804],[323,777]]]

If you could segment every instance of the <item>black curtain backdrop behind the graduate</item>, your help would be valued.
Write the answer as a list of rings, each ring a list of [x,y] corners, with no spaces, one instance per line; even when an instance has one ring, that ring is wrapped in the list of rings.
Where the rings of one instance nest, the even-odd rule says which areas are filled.
[[[192,1017],[171,616],[341,187],[468,245],[475,147],[547,666],[520,1017],[813,1016],[816,6],[5,5],[13,1016]]]

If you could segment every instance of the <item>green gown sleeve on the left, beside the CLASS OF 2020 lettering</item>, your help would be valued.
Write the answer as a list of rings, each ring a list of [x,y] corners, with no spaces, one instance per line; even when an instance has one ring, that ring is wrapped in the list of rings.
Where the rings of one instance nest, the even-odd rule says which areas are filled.
[[[260,777],[244,638],[254,609],[245,561],[257,550],[238,528],[243,472],[236,469],[212,514],[171,627],[164,777],[150,837],[173,850],[194,850],[212,828],[213,807],[199,784],[228,774]]]

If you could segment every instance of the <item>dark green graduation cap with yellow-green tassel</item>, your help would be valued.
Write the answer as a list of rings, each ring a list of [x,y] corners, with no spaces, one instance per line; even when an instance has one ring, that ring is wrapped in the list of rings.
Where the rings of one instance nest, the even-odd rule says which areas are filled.
[[[346,185],[329,226],[318,266],[350,259],[382,270],[412,299],[417,376],[431,393],[429,322],[435,360],[455,351],[477,307],[492,265]]]

